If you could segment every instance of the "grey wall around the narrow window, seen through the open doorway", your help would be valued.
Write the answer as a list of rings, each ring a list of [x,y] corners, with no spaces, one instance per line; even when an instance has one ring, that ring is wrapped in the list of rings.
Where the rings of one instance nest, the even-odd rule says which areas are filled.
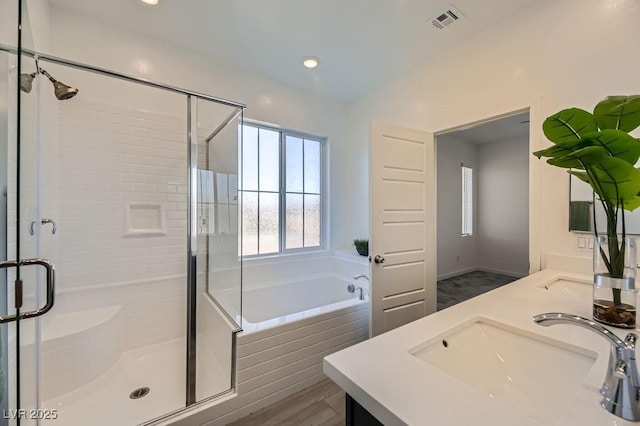
[[[438,181],[438,279],[475,270],[477,228],[473,235],[462,236],[462,175],[460,165],[478,172],[477,146],[442,135],[437,138]],[[478,179],[474,176],[474,194],[478,194]],[[473,199],[474,222],[477,224],[478,196]]]

